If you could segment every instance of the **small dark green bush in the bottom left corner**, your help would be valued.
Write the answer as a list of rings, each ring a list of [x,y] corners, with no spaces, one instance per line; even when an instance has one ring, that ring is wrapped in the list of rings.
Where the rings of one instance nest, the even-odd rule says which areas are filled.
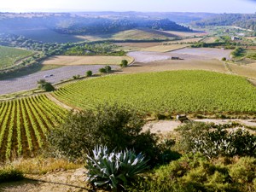
[[[14,168],[0,169],[0,183],[19,181],[23,178],[24,178],[23,173]]]

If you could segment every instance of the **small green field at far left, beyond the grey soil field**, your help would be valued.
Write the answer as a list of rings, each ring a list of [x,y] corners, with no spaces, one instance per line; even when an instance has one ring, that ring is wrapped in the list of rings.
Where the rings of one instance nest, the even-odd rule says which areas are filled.
[[[0,46],[0,70],[13,66],[15,61],[32,55],[32,53],[32,51],[26,49]]]

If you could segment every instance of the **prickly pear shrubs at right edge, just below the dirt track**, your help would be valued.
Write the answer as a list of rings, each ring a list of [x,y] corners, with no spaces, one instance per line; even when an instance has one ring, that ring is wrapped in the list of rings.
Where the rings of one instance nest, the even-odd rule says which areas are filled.
[[[231,126],[231,125],[230,125]],[[177,128],[180,147],[185,152],[200,152],[208,158],[256,154],[256,136],[241,129],[228,132],[225,125],[191,123]]]

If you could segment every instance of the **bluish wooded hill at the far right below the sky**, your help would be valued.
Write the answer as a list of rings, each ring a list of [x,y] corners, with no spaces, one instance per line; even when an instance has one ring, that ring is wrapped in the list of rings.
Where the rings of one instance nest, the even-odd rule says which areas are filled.
[[[256,14],[221,14],[192,23],[195,26],[239,26],[256,31]]]

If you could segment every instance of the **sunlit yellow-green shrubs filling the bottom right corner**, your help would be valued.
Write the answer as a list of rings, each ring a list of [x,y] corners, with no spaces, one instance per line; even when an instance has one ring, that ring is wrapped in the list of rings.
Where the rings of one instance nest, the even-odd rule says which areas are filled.
[[[185,154],[143,175],[128,191],[253,192],[255,167],[255,158],[243,157],[236,163],[224,165],[219,160],[207,160],[201,154]]]

